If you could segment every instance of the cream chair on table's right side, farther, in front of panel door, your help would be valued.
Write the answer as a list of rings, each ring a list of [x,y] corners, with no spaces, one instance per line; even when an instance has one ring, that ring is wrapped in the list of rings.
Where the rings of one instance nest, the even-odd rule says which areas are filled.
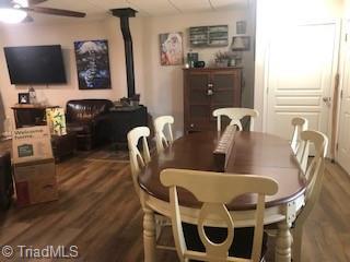
[[[293,134],[291,140],[292,151],[302,168],[306,171],[307,160],[308,160],[308,142],[302,141],[300,134],[302,131],[307,130],[308,121],[303,117],[295,117],[292,119]],[[304,148],[303,143],[307,143],[307,146]]]

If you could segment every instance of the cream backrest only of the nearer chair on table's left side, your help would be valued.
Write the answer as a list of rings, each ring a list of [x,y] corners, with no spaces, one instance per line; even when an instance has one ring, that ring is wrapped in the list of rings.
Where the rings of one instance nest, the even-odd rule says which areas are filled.
[[[150,160],[150,150],[147,138],[150,135],[150,129],[147,127],[133,128],[128,132],[128,147],[131,165],[131,176],[135,190],[139,194],[138,175],[140,169],[144,167]],[[142,155],[138,148],[139,140],[142,139]]]

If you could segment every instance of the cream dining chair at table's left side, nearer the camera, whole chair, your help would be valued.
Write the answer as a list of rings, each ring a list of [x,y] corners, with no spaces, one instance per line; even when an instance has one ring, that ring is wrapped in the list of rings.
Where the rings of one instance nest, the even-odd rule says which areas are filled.
[[[140,186],[138,182],[138,176],[142,167],[144,167],[150,160],[150,150],[147,142],[147,138],[150,136],[150,129],[148,127],[137,127],[128,132],[128,147],[129,147],[129,156],[130,156],[130,165],[131,165],[131,177],[133,188],[140,198]],[[138,148],[139,141],[142,140],[142,154]],[[143,207],[144,203],[140,198],[141,206]],[[162,229],[166,226],[170,226],[171,222],[167,217],[155,214],[155,236],[156,240],[160,239],[162,235]],[[156,245],[159,249],[166,250],[175,250],[172,246]]]

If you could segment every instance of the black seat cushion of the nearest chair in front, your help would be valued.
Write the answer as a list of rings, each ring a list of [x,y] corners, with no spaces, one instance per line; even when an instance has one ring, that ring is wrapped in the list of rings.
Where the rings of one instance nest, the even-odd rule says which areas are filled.
[[[187,249],[194,251],[205,252],[205,246],[202,245],[198,235],[197,225],[183,223],[184,236],[187,245]],[[218,227],[205,227],[206,234],[212,242],[220,243],[225,240],[228,236],[228,229]],[[267,251],[267,234],[264,233],[261,258]],[[249,259],[252,257],[254,239],[254,227],[243,227],[234,229],[233,243],[229,250],[231,257]]]

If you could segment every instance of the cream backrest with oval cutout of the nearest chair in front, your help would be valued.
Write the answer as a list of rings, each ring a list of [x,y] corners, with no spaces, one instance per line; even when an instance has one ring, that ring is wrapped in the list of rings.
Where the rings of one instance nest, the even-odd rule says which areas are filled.
[[[229,257],[229,249],[233,242],[234,223],[225,204],[242,194],[257,193],[256,224],[252,259],[249,261],[257,262],[260,260],[265,195],[272,195],[278,190],[278,183],[273,179],[254,175],[228,175],[185,169],[164,169],[161,172],[161,182],[170,188],[173,235],[180,261],[187,261],[188,259],[200,261],[233,261],[233,258]],[[197,229],[200,240],[206,247],[206,252],[187,249],[182,226],[177,187],[190,191],[199,202],[203,203],[199,213]],[[210,241],[203,228],[206,218],[212,215],[222,219],[228,226],[228,238],[221,243]]]

